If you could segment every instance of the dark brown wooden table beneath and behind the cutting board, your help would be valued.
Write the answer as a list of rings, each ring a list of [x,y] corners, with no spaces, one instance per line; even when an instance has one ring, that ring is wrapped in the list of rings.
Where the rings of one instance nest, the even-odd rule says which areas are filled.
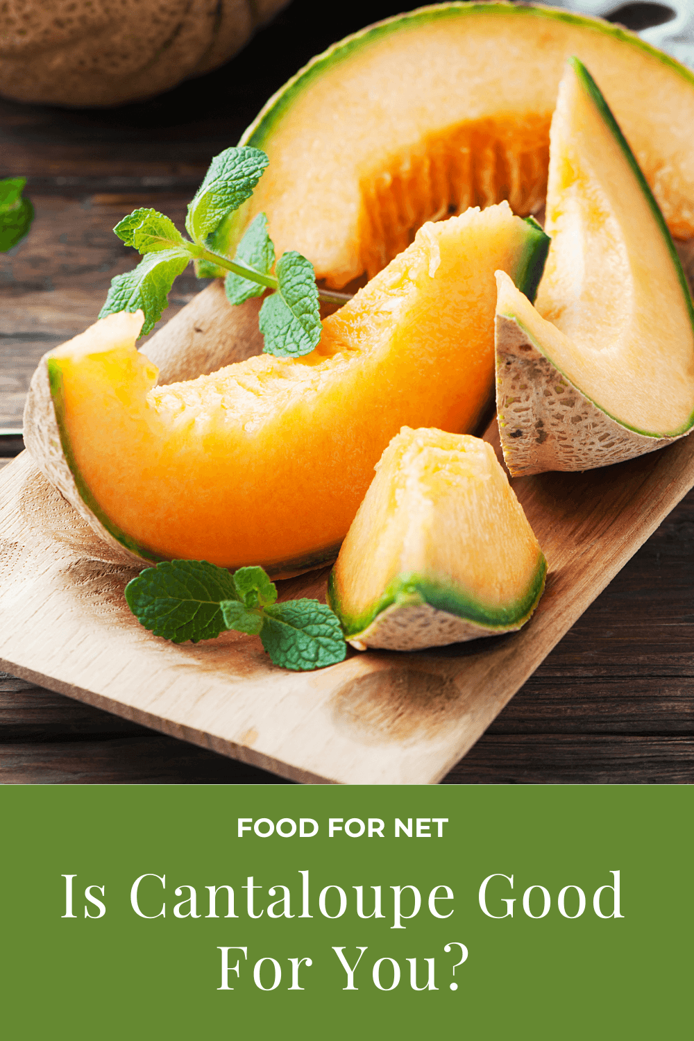
[[[397,9],[353,4],[326,27],[295,0],[224,69],[139,105],[69,111],[0,102],[0,177],[27,176],[36,208],[30,236],[0,258],[0,429],[21,426],[41,355],[94,322],[112,276],[133,265],[112,226],[150,205],[182,227],[209,159],[237,141],[273,91],[333,39]],[[162,322],[203,284],[182,275]],[[692,589],[694,492],[445,782],[691,783]],[[0,782],[277,781],[0,674]]]

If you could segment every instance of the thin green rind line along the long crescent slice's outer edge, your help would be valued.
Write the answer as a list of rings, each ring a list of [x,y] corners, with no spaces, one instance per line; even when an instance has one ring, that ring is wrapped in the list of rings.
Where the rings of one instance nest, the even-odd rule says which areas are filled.
[[[77,465],[72,441],[68,433],[65,396],[62,392],[62,370],[56,358],[48,358],[48,382],[51,390],[51,399],[53,401],[55,422],[60,436],[62,454],[65,456],[66,463],[70,467],[70,473],[73,476],[75,487],[77,488],[79,497],[84,505],[95,515],[102,527],[106,529],[108,534],[111,535],[111,537],[114,538],[115,541],[130,554],[134,554],[136,557],[142,558],[144,562],[159,563],[163,560],[170,560],[170,557],[161,556],[153,550],[146,549],[140,545],[139,542],[136,542],[135,539],[131,538],[130,535],[126,534],[126,532],[124,532],[110,519],[103,507],[95,499],[92,489]],[[265,570],[271,578],[290,578],[292,575],[299,575],[303,572],[312,570],[315,567],[322,567],[326,564],[333,563],[333,561],[337,558],[339,550],[340,543],[338,542],[336,545],[329,545],[322,550],[315,550],[295,560],[281,561],[274,565],[265,564]],[[237,567],[242,567],[247,563],[248,561],[238,561],[235,564],[228,564],[227,566],[230,570],[235,570]]]

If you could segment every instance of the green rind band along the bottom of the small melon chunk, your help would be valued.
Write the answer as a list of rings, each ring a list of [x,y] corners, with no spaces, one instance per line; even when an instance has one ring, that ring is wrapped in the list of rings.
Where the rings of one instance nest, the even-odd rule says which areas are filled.
[[[360,614],[351,614],[340,596],[333,568],[328,580],[328,604],[340,619],[348,640],[358,640],[378,616],[393,605],[405,607],[429,604],[436,610],[479,626],[485,632],[506,633],[520,629],[533,614],[544,590],[546,575],[547,561],[544,554],[540,553],[524,595],[509,607],[489,608],[453,583],[443,584],[414,573],[401,574],[389,583],[371,607]]]

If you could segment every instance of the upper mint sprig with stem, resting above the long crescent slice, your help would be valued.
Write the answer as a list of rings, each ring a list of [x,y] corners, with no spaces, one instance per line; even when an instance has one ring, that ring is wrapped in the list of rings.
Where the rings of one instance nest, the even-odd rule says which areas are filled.
[[[145,335],[169,306],[174,279],[197,260],[229,273],[225,290],[232,304],[260,297],[266,289],[275,290],[261,308],[265,353],[284,358],[312,351],[320,339],[318,300],[343,304],[350,297],[318,291],[310,260],[292,250],[282,255],[273,275],[275,247],[264,213],[259,213],[248,228],[233,260],[215,252],[216,232],[250,199],[268,161],[264,152],[248,146],[228,148],[214,156],[188,206],[185,227],[192,242],[155,209],[135,209],[117,224],[115,234],[144,259],[134,271],[111,281],[99,318],[115,311],[143,310],[140,335]]]

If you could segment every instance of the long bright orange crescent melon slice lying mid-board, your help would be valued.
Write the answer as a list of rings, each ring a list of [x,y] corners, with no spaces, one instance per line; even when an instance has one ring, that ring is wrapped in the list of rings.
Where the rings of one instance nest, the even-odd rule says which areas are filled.
[[[494,270],[534,296],[546,248],[506,203],[427,225],[311,354],[170,386],[135,350],[138,319],[104,319],[42,360],[27,447],[135,559],[275,576],[334,560],[403,424],[474,428],[493,396]]]

